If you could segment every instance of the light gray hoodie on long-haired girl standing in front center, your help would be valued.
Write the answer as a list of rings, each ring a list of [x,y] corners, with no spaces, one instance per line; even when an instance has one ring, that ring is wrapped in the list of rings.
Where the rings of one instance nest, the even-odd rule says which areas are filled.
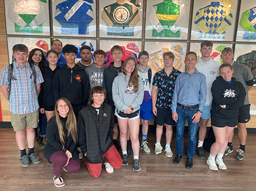
[[[129,106],[133,106],[133,111],[140,109],[140,104],[143,101],[144,86],[141,77],[139,77],[139,90],[133,92],[133,86],[128,85],[129,77],[121,72],[115,77],[112,87],[112,97],[115,102],[115,106],[120,111],[126,111]]]

